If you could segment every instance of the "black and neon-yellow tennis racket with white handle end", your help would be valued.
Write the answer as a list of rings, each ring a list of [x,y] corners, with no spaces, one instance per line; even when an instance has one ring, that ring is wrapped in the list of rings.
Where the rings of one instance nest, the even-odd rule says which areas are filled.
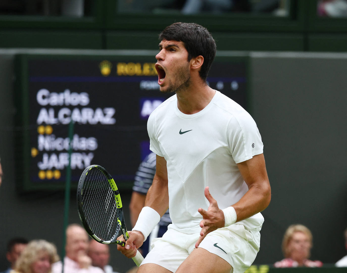
[[[88,234],[101,244],[118,244],[123,234],[129,238],[125,226],[122,201],[115,180],[99,165],[84,169],[77,187],[77,207],[79,218]],[[133,260],[140,266],[143,257],[139,251]]]

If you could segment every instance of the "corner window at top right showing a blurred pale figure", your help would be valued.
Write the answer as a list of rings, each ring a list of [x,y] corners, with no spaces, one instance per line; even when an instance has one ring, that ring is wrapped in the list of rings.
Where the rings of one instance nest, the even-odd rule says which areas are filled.
[[[346,0],[321,0],[317,4],[317,14],[319,16],[346,17]]]

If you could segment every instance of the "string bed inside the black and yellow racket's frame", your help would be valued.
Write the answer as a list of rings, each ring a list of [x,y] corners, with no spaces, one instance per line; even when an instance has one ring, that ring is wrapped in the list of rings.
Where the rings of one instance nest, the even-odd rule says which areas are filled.
[[[82,207],[93,233],[103,241],[118,237],[120,210],[107,177],[97,168],[91,169],[83,184]]]

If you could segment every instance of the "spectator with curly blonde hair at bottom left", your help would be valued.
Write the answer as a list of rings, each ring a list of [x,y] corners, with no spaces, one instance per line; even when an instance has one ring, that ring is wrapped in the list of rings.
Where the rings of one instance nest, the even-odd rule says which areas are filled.
[[[17,259],[12,273],[50,273],[52,264],[57,261],[56,246],[45,240],[33,240]]]

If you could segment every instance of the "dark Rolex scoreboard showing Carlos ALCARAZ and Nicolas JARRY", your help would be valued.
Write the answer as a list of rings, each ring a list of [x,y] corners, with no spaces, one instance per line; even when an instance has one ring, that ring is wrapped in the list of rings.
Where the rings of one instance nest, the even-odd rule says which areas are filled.
[[[154,54],[16,56],[17,188],[64,189],[71,145],[71,188],[99,164],[131,189],[150,152],[147,119],[173,95],[160,93],[155,61]],[[216,57],[207,80],[247,109],[246,57]]]

